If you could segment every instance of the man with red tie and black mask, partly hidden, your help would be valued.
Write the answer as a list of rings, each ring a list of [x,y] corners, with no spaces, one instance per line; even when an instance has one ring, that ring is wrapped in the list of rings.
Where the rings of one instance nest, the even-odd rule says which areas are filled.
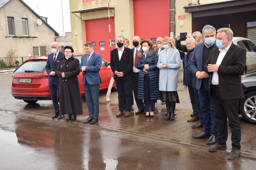
[[[138,53],[141,51],[141,38],[139,36],[133,37],[133,93],[135,102],[138,107],[138,111],[135,112],[135,114],[141,114],[144,113],[144,104],[142,99],[138,99],[138,77],[139,77],[139,69],[137,69],[137,63],[138,63]]]

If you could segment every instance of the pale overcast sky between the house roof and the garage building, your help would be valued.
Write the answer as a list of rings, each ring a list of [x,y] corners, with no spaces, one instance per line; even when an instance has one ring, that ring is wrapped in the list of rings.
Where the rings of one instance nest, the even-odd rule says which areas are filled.
[[[48,17],[51,25],[63,36],[61,1],[63,7],[64,32],[71,32],[69,0],[23,0],[40,16]],[[38,5],[38,10],[37,10]]]

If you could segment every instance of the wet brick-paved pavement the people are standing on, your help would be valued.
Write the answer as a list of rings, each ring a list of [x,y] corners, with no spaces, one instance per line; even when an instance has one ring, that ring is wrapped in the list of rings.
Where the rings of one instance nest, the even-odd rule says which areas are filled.
[[[11,73],[0,74],[0,97],[1,109],[8,109],[13,111],[25,112],[29,114],[51,117],[54,109],[51,101],[38,101],[31,105],[22,100],[14,99],[11,95]],[[194,139],[193,135],[202,132],[202,128],[193,129],[191,125],[196,122],[187,122],[190,119],[192,106],[189,99],[188,89],[184,89],[182,82],[178,83],[178,95],[180,103],[176,104],[176,113],[174,121],[165,120],[165,105],[160,101],[155,103],[154,118],[145,118],[144,114],[135,115],[138,110],[136,104],[134,111],[131,112],[130,117],[116,117],[118,113],[118,98],[117,92],[111,92],[110,102],[106,102],[107,90],[100,91],[100,105],[99,105],[99,122],[94,125],[85,124],[86,126],[96,126],[107,129],[119,130],[126,133],[143,135],[146,137],[167,140],[171,142],[183,143],[195,147],[207,148],[207,139]],[[88,117],[88,110],[85,97],[82,96],[83,115],[77,116],[77,123],[82,123]],[[135,101],[134,101],[135,103]],[[64,121],[54,120],[54,121]],[[256,158],[256,125],[250,124],[247,121],[241,121],[241,149],[242,155]],[[231,149],[231,131],[228,128],[227,152]],[[224,150],[225,151],[225,150]]]

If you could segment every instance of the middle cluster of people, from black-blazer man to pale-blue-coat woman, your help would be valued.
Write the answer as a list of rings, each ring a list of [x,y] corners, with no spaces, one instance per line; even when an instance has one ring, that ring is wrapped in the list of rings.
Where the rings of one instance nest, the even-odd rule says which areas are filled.
[[[131,96],[134,93],[138,107],[135,114],[145,112],[145,117],[153,118],[155,102],[161,99],[166,104],[166,120],[175,119],[175,105],[179,103],[177,88],[181,58],[174,47],[174,39],[158,39],[161,39],[160,48],[153,47],[151,40],[141,40],[139,36],[134,36],[134,48],[129,49],[126,47],[129,44],[127,39],[117,37],[118,48],[112,50],[110,55],[110,67],[118,92],[117,117],[131,115]]]

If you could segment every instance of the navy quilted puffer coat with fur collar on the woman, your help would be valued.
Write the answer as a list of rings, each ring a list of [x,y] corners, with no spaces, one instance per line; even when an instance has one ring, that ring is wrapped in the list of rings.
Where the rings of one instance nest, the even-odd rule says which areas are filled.
[[[156,53],[155,48],[150,48],[145,59],[145,55],[143,55],[143,50],[138,53],[139,60],[137,64],[137,68],[141,71],[138,76],[138,99],[144,99],[144,88],[143,88],[143,80],[145,72],[143,71],[144,65],[149,64],[149,77],[150,77],[150,99],[151,100],[160,100],[160,92],[159,92],[159,71],[157,68],[158,55]]]

